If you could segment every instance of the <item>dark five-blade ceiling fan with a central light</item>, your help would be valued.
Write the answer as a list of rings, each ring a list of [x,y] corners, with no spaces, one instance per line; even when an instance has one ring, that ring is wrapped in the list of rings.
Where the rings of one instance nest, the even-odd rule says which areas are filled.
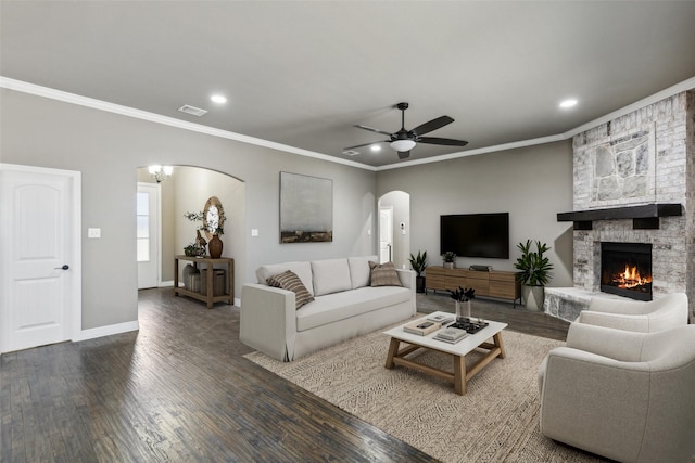
[[[375,129],[374,127],[368,126],[353,126],[359,129],[369,130],[370,132],[377,132],[389,137],[389,140],[376,141],[370,143],[363,143],[355,146],[345,147],[343,151],[354,150],[356,147],[368,146],[375,143],[390,143],[391,147],[394,149],[399,153],[399,159],[405,159],[410,155],[410,150],[415,147],[417,143],[428,143],[428,144],[443,144],[447,146],[466,146],[468,144],[467,141],[464,140],[454,140],[454,139],[443,139],[439,137],[422,137],[425,133],[429,133],[437,129],[441,129],[454,121],[453,118],[448,116],[441,116],[435,119],[430,120],[429,123],[425,123],[420,126],[412,130],[405,130],[405,110],[408,108],[407,103],[399,103],[395,105],[399,110],[401,110],[401,130],[394,133],[389,133],[383,130]]]

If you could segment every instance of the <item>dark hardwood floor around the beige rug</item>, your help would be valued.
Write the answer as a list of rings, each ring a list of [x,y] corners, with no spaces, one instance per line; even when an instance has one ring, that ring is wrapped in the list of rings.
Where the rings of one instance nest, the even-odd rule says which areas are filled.
[[[208,310],[172,288],[139,300],[139,332],[2,355],[2,462],[433,461],[245,360],[238,308]],[[567,332],[544,314],[480,303],[511,330]]]

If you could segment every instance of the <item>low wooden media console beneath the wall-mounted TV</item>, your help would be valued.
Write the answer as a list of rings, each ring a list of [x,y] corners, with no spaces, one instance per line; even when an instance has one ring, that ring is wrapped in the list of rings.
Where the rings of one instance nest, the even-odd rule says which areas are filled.
[[[425,286],[430,290],[458,290],[472,287],[476,296],[511,299],[514,306],[521,300],[521,284],[516,279],[517,272],[491,270],[489,272],[468,269],[445,269],[430,266],[426,269]]]

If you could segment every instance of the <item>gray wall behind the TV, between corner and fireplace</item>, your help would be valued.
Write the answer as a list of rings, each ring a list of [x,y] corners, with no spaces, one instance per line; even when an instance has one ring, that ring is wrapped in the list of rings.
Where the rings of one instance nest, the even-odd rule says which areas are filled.
[[[540,240],[553,247],[548,286],[572,285],[572,226],[556,217],[572,210],[570,140],[380,171],[377,195],[394,190],[410,195],[410,252],[427,250],[429,265],[442,262],[440,215],[509,213],[510,259],[459,257],[457,266],[514,270],[516,244]]]

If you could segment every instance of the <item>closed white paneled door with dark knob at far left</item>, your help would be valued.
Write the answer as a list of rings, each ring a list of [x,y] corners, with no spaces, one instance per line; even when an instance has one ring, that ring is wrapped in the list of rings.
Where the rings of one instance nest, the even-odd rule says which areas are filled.
[[[80,175],[0,165],[0,351],[71,339],[80,326]]]

